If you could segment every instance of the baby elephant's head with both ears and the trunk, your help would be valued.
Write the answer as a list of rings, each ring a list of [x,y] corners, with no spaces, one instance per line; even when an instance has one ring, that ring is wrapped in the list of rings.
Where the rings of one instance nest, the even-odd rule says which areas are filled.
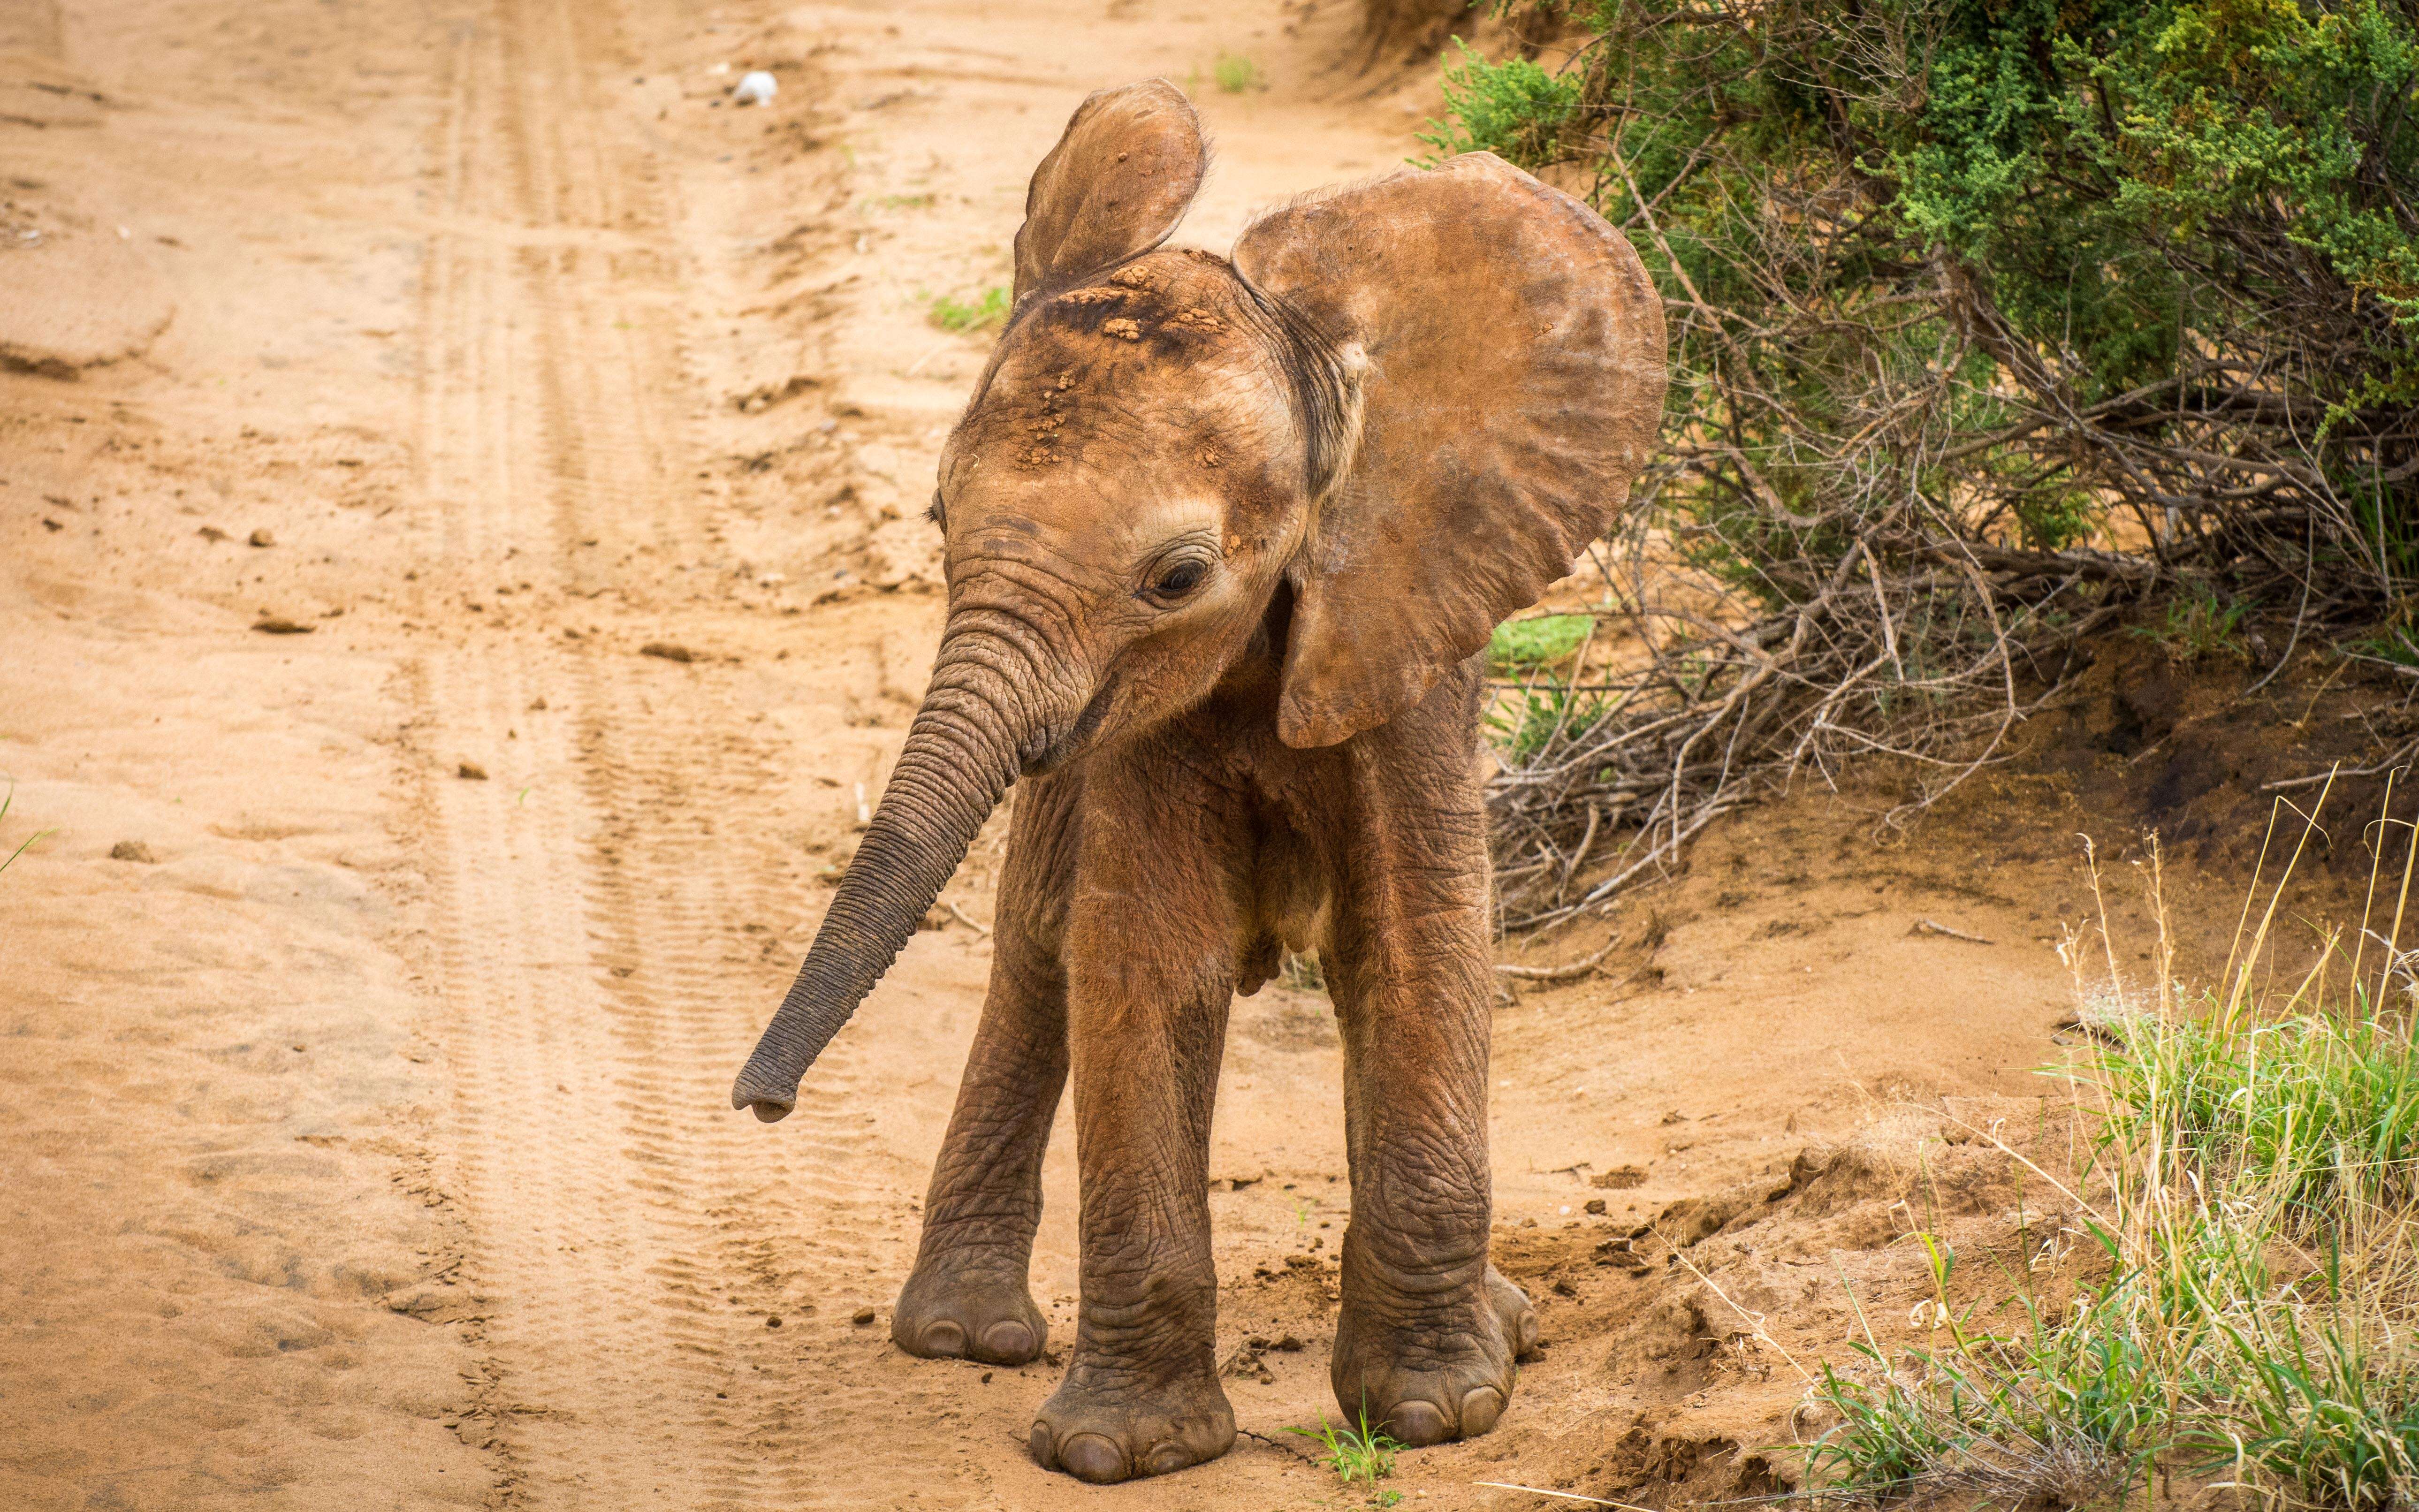
[[[1164,252],[1207,148],[1166,82],[1033,174],[1006,331],[941,452],[931,687],[731,1093],[774,1120],[1018,774],[1200,704],[1270,631],[1277,735],[1425,697],[1606,530],[1662,411],[1662,300],[1490,152]]]

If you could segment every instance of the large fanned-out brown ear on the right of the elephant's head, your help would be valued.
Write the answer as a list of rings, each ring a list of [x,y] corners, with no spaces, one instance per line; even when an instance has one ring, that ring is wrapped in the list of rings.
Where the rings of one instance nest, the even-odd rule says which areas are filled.
[[[1234,266],[1357,375],[1277,704],[1287,745],[1333,745],[1427,697],[1618,515],[1662,419],[1662,298],[1601,215],[1493,152],[1284,206]]]

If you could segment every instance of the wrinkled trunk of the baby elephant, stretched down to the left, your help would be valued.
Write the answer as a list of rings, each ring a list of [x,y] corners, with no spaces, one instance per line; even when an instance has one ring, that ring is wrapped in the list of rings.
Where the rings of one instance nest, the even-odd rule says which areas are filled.
[[[1064,719],[1035,716],[1006,675],[1021,656],[987,629],[951,627],[873,823],[755,1055],[733,1108],[764,1123],[798,1103],[798,1079],[873,992],[941,895],[982,820]]]

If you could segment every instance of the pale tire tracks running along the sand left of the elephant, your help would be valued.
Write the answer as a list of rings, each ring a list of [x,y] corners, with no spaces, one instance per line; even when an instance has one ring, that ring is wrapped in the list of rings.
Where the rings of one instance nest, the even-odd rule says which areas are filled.
[[[457,34],[423,295],[423,617],[479,600],[491,624],[506,590],[593,605],[590,547],[660,571],[711,527],[675,481],[694,385],[660,177],[590,97],[624,65],[602,5],[498,0]],[[431,755],[489,772],[428,789],[448,1173],[486,1377],[464,1432],[520,1505],[864,1505],[912,1452],[830,1430],[902,1403],[801,1367],[808,1340],[767,1326],[784,1297],[883,1268],[873,1132],[849,1110],[864,1064],[835,1048],[832,1096],[779,1142],[723,1106],[791,965],[745,929],[791,917],[781,856],[735,823],[776,752],[726,673],[622,639],[506,624],[409,680]],[[847,1343],[808,1355],[861,1360]]]

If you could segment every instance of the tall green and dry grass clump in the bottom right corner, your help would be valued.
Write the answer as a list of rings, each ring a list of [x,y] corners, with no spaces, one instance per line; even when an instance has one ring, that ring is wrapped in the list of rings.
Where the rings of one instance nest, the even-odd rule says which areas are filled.
[[[2315,813],[2255,878],[2216,985],[2175,980],[2155,847],[2155,980],[2117,968],[2105,902],[2068,936],[2100,1048],[2056,1074],[2092,1137],[2076,1168],[2034,1171],[2097,1263],[2051,1241],[2008,1268],[2005,1306],[1952,1309],[1959,1258],[1918,1236],[1942,1343],[1889,1355],[1867,1333],[1822,1372],[1814,1495],[2090,1505],[2189,1476],[2271,1507],[2419,1505],[2419,951],[2390,803],[2380,832],[2404,844],[2378,852],[2404,852],[2400,876],[2373,873],[2359,929],[2322,931],[2291,975],[2279,917]],[[2097,1280],[2073,1289],[2078,1270]]]

